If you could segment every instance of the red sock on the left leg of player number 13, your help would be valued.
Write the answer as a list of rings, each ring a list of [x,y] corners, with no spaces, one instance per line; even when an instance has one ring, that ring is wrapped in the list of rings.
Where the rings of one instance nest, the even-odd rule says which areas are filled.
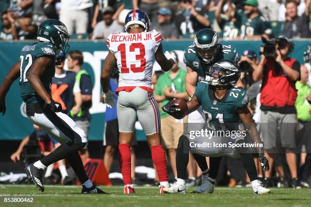
[[[120,144],[119,145],[119,163],[121,173],[123,176],[124,185],[133,184],[131,179],[131,152],[130,145]]]

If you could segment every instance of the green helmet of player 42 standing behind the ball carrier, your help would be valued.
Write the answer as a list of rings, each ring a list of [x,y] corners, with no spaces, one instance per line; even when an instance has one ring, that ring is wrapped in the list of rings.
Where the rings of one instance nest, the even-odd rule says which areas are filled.
[[[219,52],[219,37],[212,29],[201,29],[196,33],[193,41],[196,53],[201,61],[211,63],[215,60]]]

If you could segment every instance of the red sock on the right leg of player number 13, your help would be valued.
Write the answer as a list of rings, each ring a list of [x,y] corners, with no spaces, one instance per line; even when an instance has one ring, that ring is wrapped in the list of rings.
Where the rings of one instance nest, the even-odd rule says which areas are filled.
[[[154,145],[151,147],[152,161],[157,167],[160,182],[168,181],[166,157],[162,145]]]

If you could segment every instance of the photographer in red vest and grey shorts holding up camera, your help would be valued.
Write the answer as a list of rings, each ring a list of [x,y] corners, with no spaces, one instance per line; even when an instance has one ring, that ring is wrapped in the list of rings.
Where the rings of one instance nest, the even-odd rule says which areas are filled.
[[[263,41],[266,42],[266,45],[262,50],[260,63],[253,72],[253,79],[254,81],[263,80],[260,96],[260,109],[262,111],[260,128],[264,148],[269,164],[272,165],[272,153],[278,149],[276,134],[279,132],[292,177],[291,186],[297,188],[299,184],[296,154],[291,152],[296,147],[295,123],[297,113],[294,104],[297,91],[295,82],[300,78],[300,63],[288,57],[293,51],[294,45],[287,37],[280,36],[275,40],[266,41],[263,39]],[[271,178],[271,169],[272,166],[265,174],[267,183]]]

